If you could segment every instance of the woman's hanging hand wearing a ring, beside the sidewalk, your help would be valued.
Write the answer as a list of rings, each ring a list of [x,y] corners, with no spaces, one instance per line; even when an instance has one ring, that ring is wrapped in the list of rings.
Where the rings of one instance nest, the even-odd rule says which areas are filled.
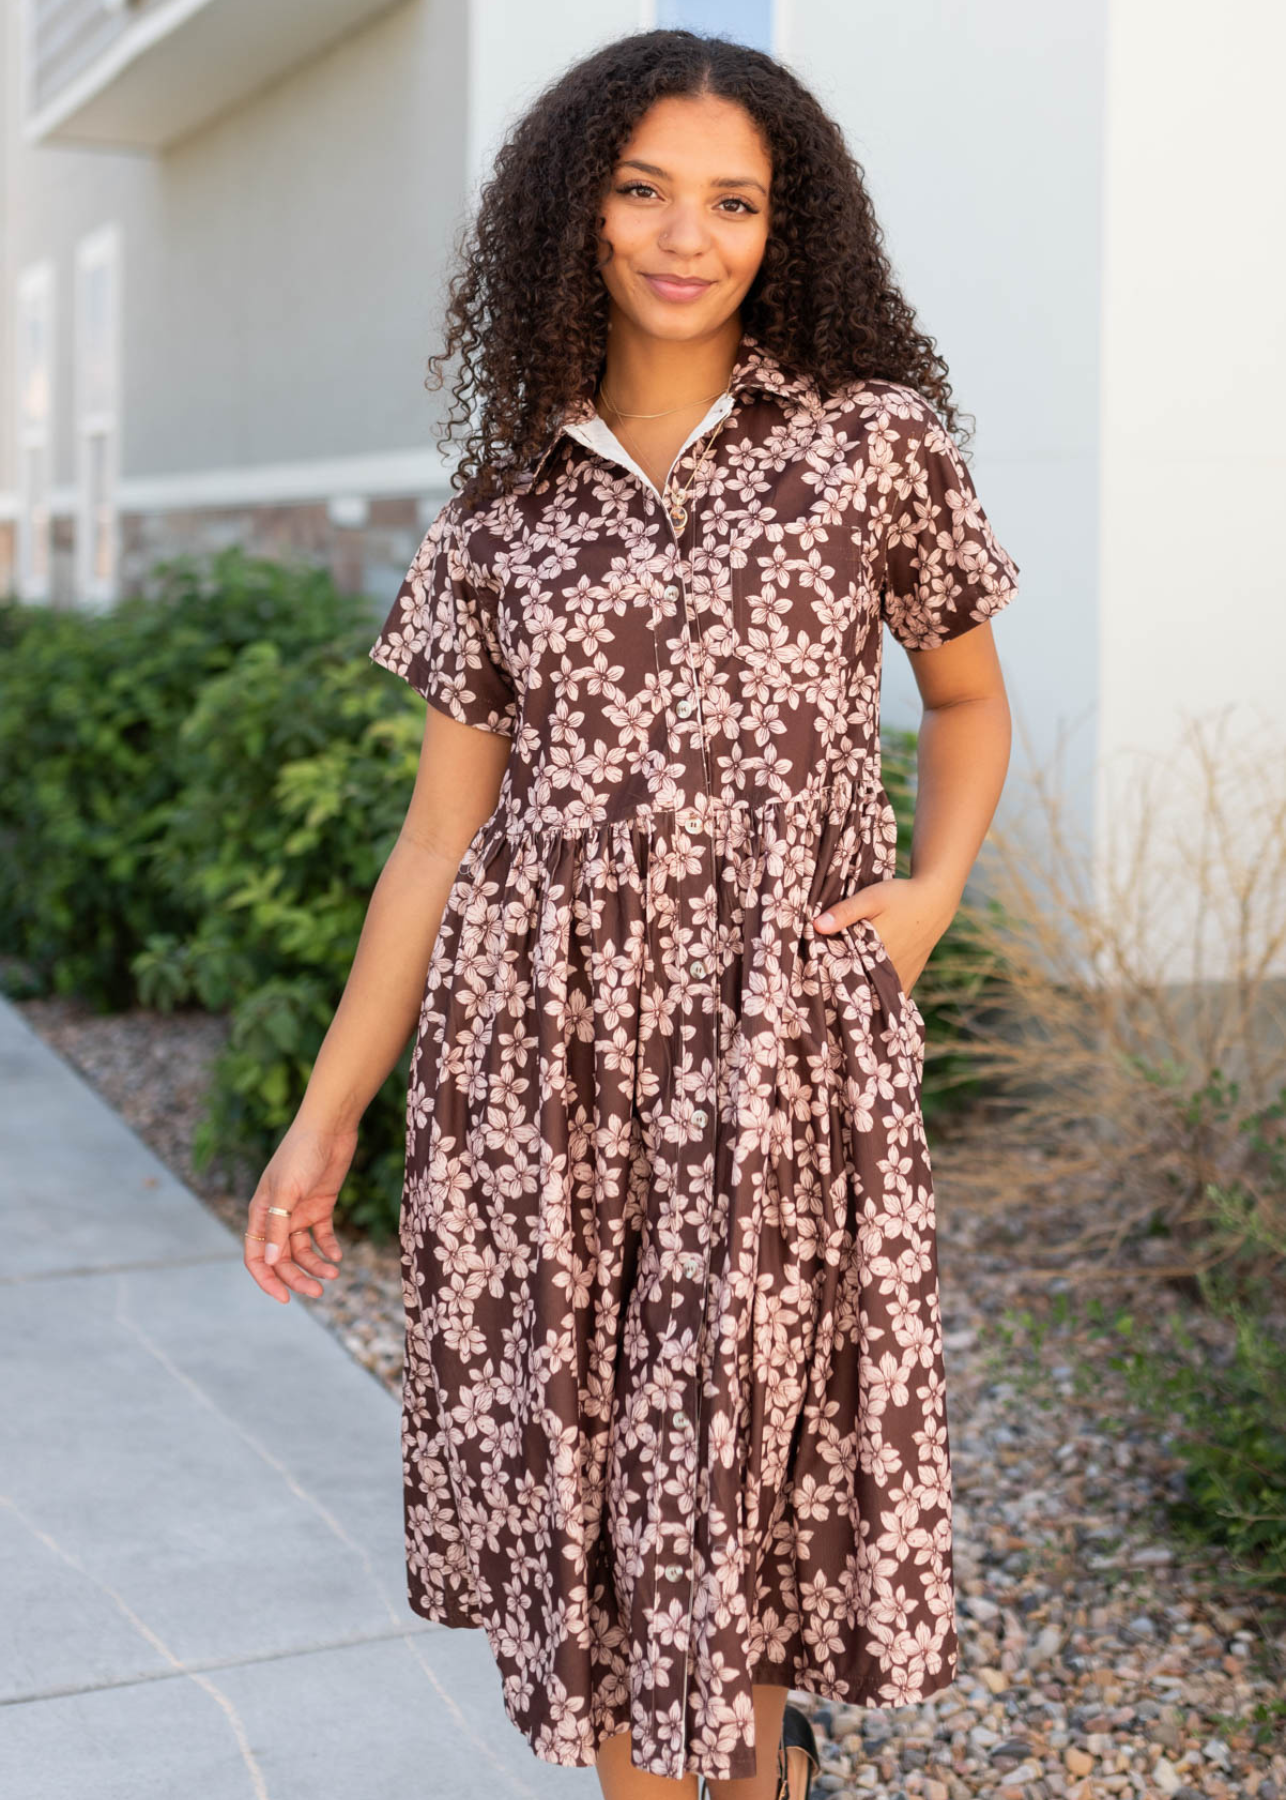
[[[283,1305],[290,1289],[317,1300],[321,1283],[339,1274],[333,1265],[344,1253],[331,1215],[355,1148],[357,1127],[317,1130],[295,1120],[259,1175],[245,1228],[245,1265]]]

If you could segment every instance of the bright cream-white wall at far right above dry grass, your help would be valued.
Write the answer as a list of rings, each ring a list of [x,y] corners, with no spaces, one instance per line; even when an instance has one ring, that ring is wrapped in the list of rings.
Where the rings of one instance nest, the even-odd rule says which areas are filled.
[[[1104,848],[1108,837],[1129,839],[1140,772],[1174,769],[1185,720],[1225,713],[1228,747],[1263,754],[1281,779],[1282,67],[1281,7],[1115,0],[1102,283]],[[1194,841],[1178,770],[1169,792],[1180,833]],[[1254,842],[1246,853],[1257,848],[1272,853]]]

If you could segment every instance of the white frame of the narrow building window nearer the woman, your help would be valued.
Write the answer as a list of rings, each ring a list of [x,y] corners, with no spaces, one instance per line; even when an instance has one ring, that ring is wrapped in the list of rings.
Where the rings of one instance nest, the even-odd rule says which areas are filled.
[[[88,333],[85,317],[86,277],[106,270],[106,394],[90,405]],[[121,569],[121,232],[101,225],[76,245],[76,598],[86,605],[112,605],[119,590]],[[108,529],[108,571],[94,569],[94,488],[90,481],[94,437],[104,441],[104,491]]]

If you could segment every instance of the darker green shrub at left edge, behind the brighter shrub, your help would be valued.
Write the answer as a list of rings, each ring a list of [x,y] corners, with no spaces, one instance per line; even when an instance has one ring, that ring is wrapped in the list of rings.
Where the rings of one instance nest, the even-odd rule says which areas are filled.
[[[97,1012],[133,1004],[148,938],[195,923],[149,855],[202,686],[247,644],[295,655],[369,610],[324,571],[240,549],[158,563],[151,585],[101,614],[9,603],[0,625],[0,938],[27,992]]]

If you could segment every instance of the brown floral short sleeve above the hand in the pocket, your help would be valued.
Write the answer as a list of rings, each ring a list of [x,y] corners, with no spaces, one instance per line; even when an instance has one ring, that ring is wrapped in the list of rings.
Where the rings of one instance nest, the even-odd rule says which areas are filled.
[[[883,511],[881,614],[906,650],[937,650],[1018,594],[960,450],[915,389],[897,387],[872,437]]]

